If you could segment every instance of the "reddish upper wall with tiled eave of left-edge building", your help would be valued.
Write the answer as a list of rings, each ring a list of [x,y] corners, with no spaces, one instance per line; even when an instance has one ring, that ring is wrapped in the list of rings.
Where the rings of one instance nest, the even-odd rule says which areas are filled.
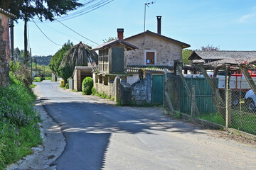
[[[14,14],[0,8],[1,26],[4,27],[3,40],[6,42],[6,60],[10,62],[9,18],[15,18]]]

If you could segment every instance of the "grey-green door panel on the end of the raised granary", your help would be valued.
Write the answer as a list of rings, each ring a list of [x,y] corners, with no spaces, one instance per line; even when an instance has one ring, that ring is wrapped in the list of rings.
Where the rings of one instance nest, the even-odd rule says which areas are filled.
[[[112,73],[124,72],[124,48],[112,48]]]

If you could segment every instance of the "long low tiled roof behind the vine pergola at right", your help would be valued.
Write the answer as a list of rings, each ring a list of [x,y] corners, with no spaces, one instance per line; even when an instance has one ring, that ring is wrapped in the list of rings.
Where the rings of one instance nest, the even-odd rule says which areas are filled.
[[[194,51],[188,60],[222,60],[256,57],[256,51]]]

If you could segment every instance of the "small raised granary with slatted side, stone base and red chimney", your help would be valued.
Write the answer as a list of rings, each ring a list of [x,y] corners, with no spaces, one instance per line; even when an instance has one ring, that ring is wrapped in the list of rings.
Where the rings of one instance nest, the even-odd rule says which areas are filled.
[[[98,72],[93,73],[93,82],[95,89],[100,93],[105,93],[107,96],[118,96],[119,82],[115,83],[114,79],[119,76],[119,79],[127,79],[129,74],[124,73],[124,54],[129,50],[137,49],[135,45],[124,41],[124,29],[117,29],[117,40],[105,42],[102,45],[92,48],[99,51]]]

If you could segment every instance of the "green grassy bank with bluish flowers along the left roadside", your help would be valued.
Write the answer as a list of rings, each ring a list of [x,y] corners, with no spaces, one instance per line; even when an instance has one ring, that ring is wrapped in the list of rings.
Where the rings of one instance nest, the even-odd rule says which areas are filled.
[[[41,143],[36,96],[10,74],[11,84],[0,88],[0,169],[31,154]]]

